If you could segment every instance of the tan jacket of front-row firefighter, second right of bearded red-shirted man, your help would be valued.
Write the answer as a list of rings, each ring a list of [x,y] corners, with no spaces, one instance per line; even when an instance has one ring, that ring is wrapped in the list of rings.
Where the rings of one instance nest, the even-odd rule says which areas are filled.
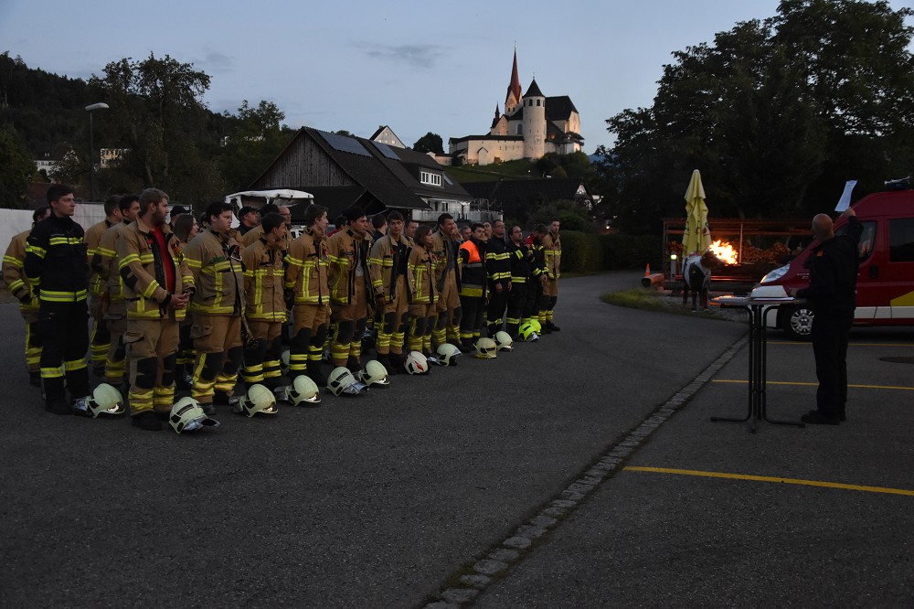
[[[253,231],[249,231],[248,234]],[[260,232],[262,235],[262,231]],[[244,315],[250,321],[284,322],[284,241],[271,243],[264,237],[241,251],[244,263]]]

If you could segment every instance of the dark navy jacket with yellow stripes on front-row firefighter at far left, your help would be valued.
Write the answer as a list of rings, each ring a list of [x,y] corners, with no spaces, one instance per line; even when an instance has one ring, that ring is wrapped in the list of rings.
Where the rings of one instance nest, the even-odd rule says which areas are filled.
[[[26,240],[25,270],[40,300],[71,303],[86,300],[89,263],[82,227],[69,216],[53,213],[35,225]]]

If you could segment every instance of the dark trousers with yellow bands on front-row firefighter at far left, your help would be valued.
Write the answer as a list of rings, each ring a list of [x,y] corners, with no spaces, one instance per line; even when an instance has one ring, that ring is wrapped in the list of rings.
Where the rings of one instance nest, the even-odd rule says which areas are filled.
[[[47,404],[89,395],[89,370],[86,350],[89,348],[89,309],[86,301],[57,303],[41,301],[38,314],[41,332],[41,379]],[[66,390],[64,379],[67,380]]]

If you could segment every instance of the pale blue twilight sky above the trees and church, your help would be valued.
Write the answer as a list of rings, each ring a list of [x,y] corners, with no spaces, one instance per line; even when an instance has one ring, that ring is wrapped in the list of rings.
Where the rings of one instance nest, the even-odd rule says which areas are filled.
[[[777,0],[0,0],[0,52],[88,79],[117,59],[170,55],[212,77],[205,101],[236,112],[276,103],[291,127],[368,137],[388,124],[407,145],[427,132],[488,132],[504,110],[515,44],[521,86],[569,95],[585,151],[604,121],[650,106],[671,53]],[[910,0],[891,0],[894,9]]]

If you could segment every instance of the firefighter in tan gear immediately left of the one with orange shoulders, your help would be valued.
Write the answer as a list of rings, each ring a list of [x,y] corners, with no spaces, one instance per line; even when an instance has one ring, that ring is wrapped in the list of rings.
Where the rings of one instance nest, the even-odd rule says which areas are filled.
[[[435,261],[435,287],[438,289],[438,320],[431,336],[435,347],[445,342],[460,348],[460,268],[457,250],[460,248],[460,230],[453,216],[448,213],[438,217],[438,230],[431,235],[431,253]]]

